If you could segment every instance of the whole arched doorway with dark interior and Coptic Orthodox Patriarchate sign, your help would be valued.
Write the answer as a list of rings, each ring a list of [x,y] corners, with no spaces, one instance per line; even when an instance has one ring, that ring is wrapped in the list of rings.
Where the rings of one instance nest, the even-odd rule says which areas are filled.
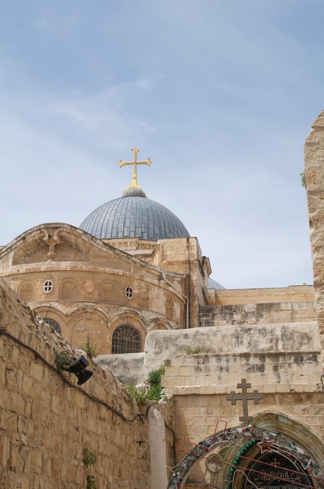
[[[276,414],[274,414],[276,416]],[[322,442],[303,423],[296,423],[294,430],[287,424],[287,432],[268,429],[256,423],[247,427],[224,429],[199,442],[173,469],[168,489],[186,487],[195,464],[202,465],[204,472],[200,487],[217,489],[311,489],[324,487]],[[291,421],[291,420],[290,420]],[[300,429],[301,439],[317,441],[317,450],[305,451],[296,442],[294,431]],[[308,433],[306,433],[306,432]],[[292,436],[291,436],[292,434]],[[297,433],[298,435],[298,433]],[[319,447],[318,443],[321,445]],[[199,485],[199,484],[198,484]]]

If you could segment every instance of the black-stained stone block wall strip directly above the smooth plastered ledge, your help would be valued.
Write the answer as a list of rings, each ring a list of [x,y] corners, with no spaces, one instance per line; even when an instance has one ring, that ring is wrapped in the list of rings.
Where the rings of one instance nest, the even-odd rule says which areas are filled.
[[[199,309],[200,326],[276,324],[316,321],[315,302],[210,305]]]

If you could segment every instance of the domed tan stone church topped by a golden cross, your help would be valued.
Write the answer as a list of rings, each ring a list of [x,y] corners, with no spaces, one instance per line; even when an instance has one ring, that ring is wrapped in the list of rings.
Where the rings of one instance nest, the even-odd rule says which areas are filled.
[[[78,347],[138,353],[153,330],[314,321],[312,286],[225,290],[211,280],[197,237],[132,184],[79,228],[47,223],[0,250],[0,277]],[[134,178],[135,174],[135,178]]]

